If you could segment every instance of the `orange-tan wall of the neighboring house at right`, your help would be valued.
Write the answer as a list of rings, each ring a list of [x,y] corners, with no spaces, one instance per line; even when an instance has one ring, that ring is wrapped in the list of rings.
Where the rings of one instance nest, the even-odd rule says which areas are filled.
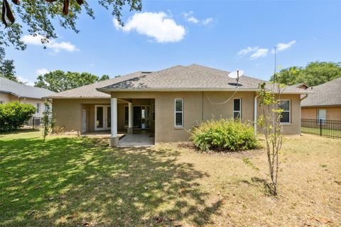
[[[341,121],[341,106],[302,107],[302,118],[317,119],[318,109],[326,110],[326,119]]]

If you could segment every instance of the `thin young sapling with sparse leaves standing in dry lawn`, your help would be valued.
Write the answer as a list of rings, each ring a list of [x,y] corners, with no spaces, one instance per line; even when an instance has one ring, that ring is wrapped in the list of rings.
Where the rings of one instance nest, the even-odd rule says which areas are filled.
[[[281,113],[283,109],[278,108],[281,99],[281,84],[272,84],[271,90],[266,83],[259,84],[259,106],[262,114],[258,118],[257,124],[261,126],[266,140],[266,155],[268,156],[269,173],[272,182],[271,193],[277,194],[278,180],[278,155],[282,146]]]

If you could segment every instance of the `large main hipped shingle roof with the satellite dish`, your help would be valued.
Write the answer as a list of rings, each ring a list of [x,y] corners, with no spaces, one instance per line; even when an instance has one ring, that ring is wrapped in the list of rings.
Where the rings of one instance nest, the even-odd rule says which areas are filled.
[[[151,72],[141,77],[126,79],[121,82],[97,88],[100,92],[114,91],[234,91],[236,80],[229,78],[229,72],[216,70],[202,65],[187,67],[176,65],[166,70]],[[243,76],[239,78],[240,91],[257,91],[262,79]],[[284,93],[303,94],[303,89],[286,87]]]

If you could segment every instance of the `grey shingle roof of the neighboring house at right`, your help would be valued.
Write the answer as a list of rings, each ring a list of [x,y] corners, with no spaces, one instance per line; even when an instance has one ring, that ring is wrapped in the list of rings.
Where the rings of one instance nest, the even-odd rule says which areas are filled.
[[[341,105],[341,77],[330,82],[308,88],[314,92],[303,99],[301,106],[338,106]]]

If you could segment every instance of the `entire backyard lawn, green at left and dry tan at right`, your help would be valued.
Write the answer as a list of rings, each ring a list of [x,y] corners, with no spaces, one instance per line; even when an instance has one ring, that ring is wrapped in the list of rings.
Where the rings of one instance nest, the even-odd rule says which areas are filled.
[[[112,149],[95,138],[41,137],[0,135],[0,226],[341,225],[340,140],[286,138],[274,197],[264,150]]]

